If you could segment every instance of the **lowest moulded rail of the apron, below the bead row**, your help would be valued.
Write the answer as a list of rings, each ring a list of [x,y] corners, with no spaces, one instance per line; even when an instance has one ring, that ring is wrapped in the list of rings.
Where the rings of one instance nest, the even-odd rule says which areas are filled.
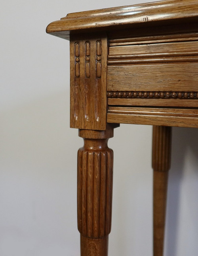
[[[107,122],[198,127],[198,109],[109,107]]]

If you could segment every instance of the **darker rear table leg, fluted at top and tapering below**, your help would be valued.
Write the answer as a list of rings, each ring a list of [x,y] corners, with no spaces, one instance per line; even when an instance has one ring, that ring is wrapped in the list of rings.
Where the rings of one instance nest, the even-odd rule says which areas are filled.
[[[153,255],[163,256],[171,127],[153,126]]]

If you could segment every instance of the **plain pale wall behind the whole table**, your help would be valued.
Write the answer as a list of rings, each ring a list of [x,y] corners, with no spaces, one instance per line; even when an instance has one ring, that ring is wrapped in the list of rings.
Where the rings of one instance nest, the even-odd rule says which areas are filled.
[[[70,12],[145,1],[4,1],[0,8],[0,256],[79,256],[69,128],[69,42],[45,33]],[[110,256],[152,255],[151,126],[114,131]],[[198,130],[173,128],[165,256],[197,256]]]

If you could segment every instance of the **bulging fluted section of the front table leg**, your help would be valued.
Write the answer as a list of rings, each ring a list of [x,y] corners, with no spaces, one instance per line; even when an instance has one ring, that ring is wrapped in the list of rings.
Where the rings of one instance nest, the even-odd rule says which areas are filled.
[[[78,230],[89,238],[109,235],[112,212],[113,151],[78,151]]]

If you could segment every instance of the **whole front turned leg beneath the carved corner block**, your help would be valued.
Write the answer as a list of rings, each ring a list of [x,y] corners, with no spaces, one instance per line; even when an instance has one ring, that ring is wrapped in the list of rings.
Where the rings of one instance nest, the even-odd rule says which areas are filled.
[[[79,130],[84,147],[78,150],[78,230],[81,256],[107,256],[112,215],[113,151],[106,131]]]

